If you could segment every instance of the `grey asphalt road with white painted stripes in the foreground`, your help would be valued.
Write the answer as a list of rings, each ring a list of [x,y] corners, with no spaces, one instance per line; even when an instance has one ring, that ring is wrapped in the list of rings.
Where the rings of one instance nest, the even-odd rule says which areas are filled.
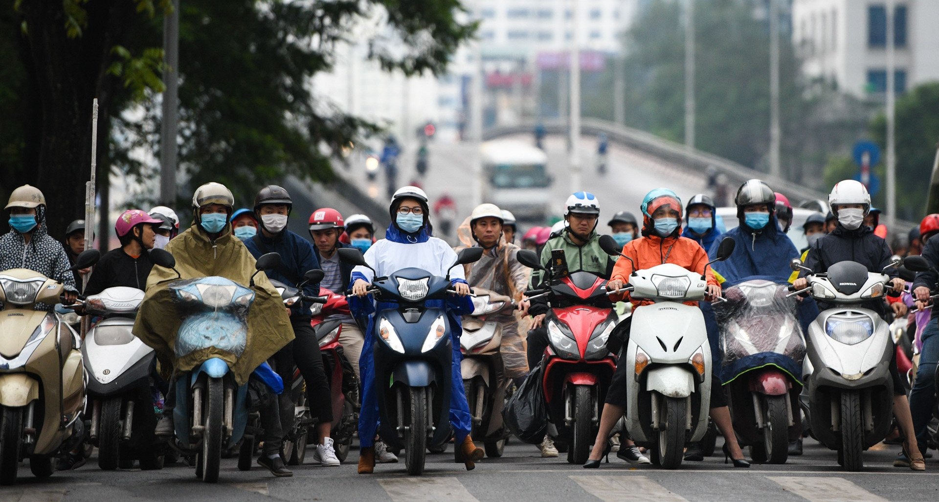
[[[925,473],[893,467],[899,447],[886,445],[864,454],[865,468],[860,473],[842,472],[835,452],[810,439],[801,457],[793,457],[783,465],[754,464],[749,469],[734,469],[723,463],[723,457],[711,457],[666,471],[653,465],[634,467],[612,454],[610,463],[586,470],[566,463],[563,454],[559,459],[542,459],[536,447],[516,441],[505,448],[502,458],[485,459],[474,471],[467,472],[453,462],[452,451],[428,455],[426,472],[421,477],[409,477],[403,460],[378,464],[375,474],[361,476],[356,473],[356,450],[349,453],[345,465],[301,465],[294,467],[292,478],[272,478],[257,465],[250,472],[241,472],[231,459],[223,461],[218,484],[203,483],[195,478],[193,468],[182,465],[162,471],[105,472],[93,456],[78,470],[57,472],[44,480],[33,478],[23,466],[16,486],[0,488],[0,500],[909,502],[939,496],[936,460],[927,460]]]

